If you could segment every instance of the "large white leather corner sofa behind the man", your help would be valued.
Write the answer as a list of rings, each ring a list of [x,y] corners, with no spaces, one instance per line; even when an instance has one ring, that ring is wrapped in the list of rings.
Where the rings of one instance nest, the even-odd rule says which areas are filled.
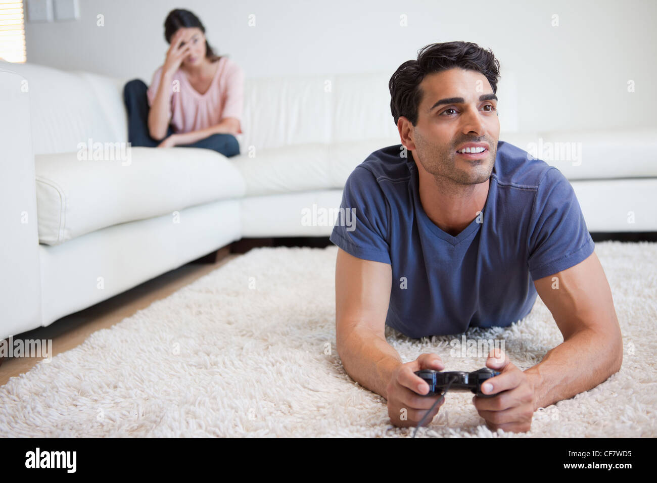
[[[129,79],[0,61],[0,338],[242,238],[330,235],[303,210],[338,208],[353,168],[399,143],[390,74],[247,79],[242,154],[229,159],[127,150]],[[656,129],[518,132],[515,92],[505,72],[500,139],[581,143],[579,164],[548,162],[572,181],[589,231],[657,231]]]

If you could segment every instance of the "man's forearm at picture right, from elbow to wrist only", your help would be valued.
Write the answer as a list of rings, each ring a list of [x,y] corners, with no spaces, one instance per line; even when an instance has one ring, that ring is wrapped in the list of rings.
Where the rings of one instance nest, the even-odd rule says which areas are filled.
[[[622,360],[620,338],[591,329],[573,334],[524,371],[533,382],[534,411],[594,388],[618,372]]]

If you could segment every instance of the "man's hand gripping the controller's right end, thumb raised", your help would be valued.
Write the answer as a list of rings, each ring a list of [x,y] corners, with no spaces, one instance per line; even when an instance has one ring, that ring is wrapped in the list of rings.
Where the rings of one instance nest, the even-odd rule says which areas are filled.
[[[478,398],[472,402],[479,415],[486,420],[491,431],[526,432],[532,427],[534,411],[533,382],[528,375],[510,363],[509,357],[499,349],[491,350],[486,367],[501,372],[499,376],[482,384],[484,394],[497,394],[494,398]]]

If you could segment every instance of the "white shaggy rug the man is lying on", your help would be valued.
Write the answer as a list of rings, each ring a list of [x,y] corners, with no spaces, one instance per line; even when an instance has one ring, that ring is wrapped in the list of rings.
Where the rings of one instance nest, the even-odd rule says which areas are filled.
[[[625,354],[620,373],[534,415],[526,434],[493,434],[451,393],[418,436],[657,436],[657,244],[599,242]],[[411,436],[385,400],[346,375],[335,349],[336,248],[261,248],[39,362],[0,387],[2,436]],[[562,342],[537,299],[505,338],[526,369]],[[413,340],[388,329],[404,361],[437,352],[446,370],[485,359],[450,356],[460,336]]]

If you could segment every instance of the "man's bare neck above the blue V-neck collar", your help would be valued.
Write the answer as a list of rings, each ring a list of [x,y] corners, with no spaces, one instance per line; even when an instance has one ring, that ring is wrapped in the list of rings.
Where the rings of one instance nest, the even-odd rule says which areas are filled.
[[[420,202],[426,216],[452,237],[456,237],[484,209],[490,178],[478,185],[458,185],[451,179],[434,176],[418,166]]]

